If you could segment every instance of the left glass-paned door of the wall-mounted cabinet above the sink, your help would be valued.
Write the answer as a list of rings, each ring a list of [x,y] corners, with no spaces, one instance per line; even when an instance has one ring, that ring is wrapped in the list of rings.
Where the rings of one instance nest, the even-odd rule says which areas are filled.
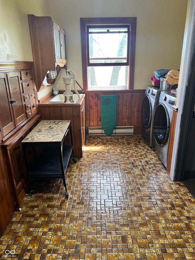
[[[53,23],[53,36],[54,36],[54,49],[55,49],[55,63],[62,62],[62,54],[61,54],[61,43],[60,43],[60,27],[52,21]]]

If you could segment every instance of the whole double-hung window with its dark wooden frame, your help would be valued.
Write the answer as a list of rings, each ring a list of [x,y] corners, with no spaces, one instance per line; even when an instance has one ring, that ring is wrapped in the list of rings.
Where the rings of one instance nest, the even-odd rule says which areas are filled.
[[[136,17],[80,22],[84,90],[133,89]]]

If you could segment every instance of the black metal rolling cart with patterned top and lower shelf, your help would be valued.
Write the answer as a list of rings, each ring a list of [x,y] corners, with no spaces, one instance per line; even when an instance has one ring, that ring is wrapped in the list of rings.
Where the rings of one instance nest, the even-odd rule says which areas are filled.
[[[71,145],[64,145],[64,139],[70,131]],[[39,155],[35,162],[28,166],[26,147],[44,147],[41,155]],[[49,177],[62,178],[66,190],[66,198],[69,194],[66,187],[65,173],[69,163],[71,153],[73,153],[73,139],[71,131],[70,120],[42,120],[22,141],[24,151],[24,158],[27,166],[27,173],[29,176],[30,192],[32,190],[30,178],[35,177]]]

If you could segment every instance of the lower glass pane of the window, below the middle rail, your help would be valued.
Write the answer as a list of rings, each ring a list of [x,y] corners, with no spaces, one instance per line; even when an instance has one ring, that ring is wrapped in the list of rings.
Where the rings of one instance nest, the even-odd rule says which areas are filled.
[[[88,67],[89,88],[127,88],[128,66]]]

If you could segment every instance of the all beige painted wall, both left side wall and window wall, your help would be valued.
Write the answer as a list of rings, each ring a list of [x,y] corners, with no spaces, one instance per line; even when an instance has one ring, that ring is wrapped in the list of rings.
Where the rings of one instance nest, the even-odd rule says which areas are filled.
[[[136,16],[134,88],[143,89],[154,70],[180,67],[186,9],[187,0],[0,0],[0,60],[32,61],[27,14],[48,15],[66,31],[68,68],[82,84],[80,17]]]

